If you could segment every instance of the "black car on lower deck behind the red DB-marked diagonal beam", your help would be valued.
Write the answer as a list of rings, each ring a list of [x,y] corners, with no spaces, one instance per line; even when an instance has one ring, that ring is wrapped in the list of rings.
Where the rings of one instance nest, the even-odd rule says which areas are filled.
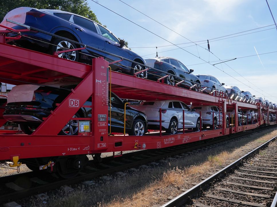
[[[61,103],[76,85],[37,86],[26,84],[15,86],[8,94],[9,103],[6,105],[3,117],[7,121],[18,123],[24,133],[31,134],[43,122],[43,118],[48,117],[50,111],[56,108],[56,103]],[[111,94],[111,105],[109,104],[111,132],[122,133],[124,131],[124,102],[114,93]],[[84,105],[91,104],[91,98],[89,98]],[[91,108],[81,107],[73,117],[91,117]],[[110,125],[110,117],[108,124]],[[147,131],[147,124],[147,118],[143,112],[126,106],[126,132],[129,135],[144,135]],[[60,135],[78,135],[78,120],[68,121]]]

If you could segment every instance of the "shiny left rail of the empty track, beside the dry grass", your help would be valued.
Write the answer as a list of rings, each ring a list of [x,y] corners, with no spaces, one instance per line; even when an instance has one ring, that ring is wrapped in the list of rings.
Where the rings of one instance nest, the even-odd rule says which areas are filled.
[[[276,139],[276,137],[277,136],[273,137],[272,139],[270,139],[266,143],[262,144],[261,146],[257,147],[256,149],[252,150],[251,152],[247,153],[243,157],[237,159],[236,161],[234,161],[230,165],[226,166],[225,168],[221,169],[220,171],[216,172],[215,174],[209,176],[207,179],[205,179],[202,182],[200,182],[199,184],[193,186],[189,190],[183,192],[179,196],[173,198],[172,200],[165,203],[161,207],[182,206],[182,205],[184,205],[188,200],[190,200],[191,198],[196,196],[199,192],[201,192],[202,190],[205,190],[206,188],[208,188],[213,181],[217,180],[218,178],[224,177],[226,174],[233,171],[237,166],[241,165],[243,163],[243,161],[248,159],[250,156],[256,154],[259,150],[265,148],[269,143],[274,141]],[[277,202],[277,197],[276,196],[275,196],[274,199],[276,199],[275,202]]]

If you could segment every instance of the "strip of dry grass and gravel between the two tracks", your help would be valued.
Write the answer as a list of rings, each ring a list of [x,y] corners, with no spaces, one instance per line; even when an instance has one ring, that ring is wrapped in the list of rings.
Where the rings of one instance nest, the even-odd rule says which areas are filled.
[[[128,172],[124,177],[114,176],[111,181],[96,180],[92,187],[82,185],[73,192],[62,190],[48,193],[46,204],[31,199],[28,206],[153,206],[167,202],[201,178],[208,177],[220,166],[227,165],[248,151],[277,135],[277,130],[267,130],[219,145],[209,150],[168,159],[165,164]]]

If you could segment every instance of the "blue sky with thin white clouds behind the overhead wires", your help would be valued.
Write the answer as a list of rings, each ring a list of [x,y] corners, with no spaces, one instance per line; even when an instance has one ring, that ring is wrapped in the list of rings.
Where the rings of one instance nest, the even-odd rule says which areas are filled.
[[[274,24],[265,0],[122,1],[193,42]],[[190,42],[119,0],[98,0],[97,2],[174,44]],[[170,43],[91,0],[88,0],[88,3],[102,24],[106,25],[116,36],[128,41],[129,47],[145,59],[155,57],[157,46],[159,56],[179,59],[187,68],[194,69],[195,75],[213,75],[226,85],[238,86],[241,90],[250,91],[257,97],[266,97],[269,101],[277,103],[277,52],[275,52],[277,51],[277,30],[274,25],[250,32],[268,29],[266,31],[252,34],[246,34],[250,32],[240,33],[237,35],[246,35],[219,41],[210,40],[210,51],[221,60],[238,58],[226,62],[227,65],[215,65],[219,70],[208,63],[199,64],[219,60],[206,50],[206,42],[197,42],[197,44],[204,43],[199,46],[195,46],[194,43],[179,45],[180,47],[190,46],[183,48],[187,51],[176,46],[161,47],[170,45]],[[277,21],[277,1],[268,0],[268,3]],[[258,56],[240,58],[255,55],[254,47],[258,54],[274,53],[260,55],[260,59]],[[163,52],[166,50],[171,51]],[[211,64],[214,63],[217,62]]]

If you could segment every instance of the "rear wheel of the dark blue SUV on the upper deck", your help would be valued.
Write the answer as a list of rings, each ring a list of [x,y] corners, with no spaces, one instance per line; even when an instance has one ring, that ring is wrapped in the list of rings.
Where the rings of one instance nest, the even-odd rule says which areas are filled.
[[[69,37],[65,37],[65,38],[69,38]],[[60,38],[56,38],[52,44],[54,44],[54,45],[52,45],[50,48],[50,54],[53,54],[54,52],[59,52],[59,51],[63,51],[63,50],[72,50],[72,49],[77,48],[75,43],[69,42],[67,40],[63,40]],[[63,53],[58,54],[58,56],[60,58],[77,61],[77,62],[79,60],[79,52],[78,51],[63,52]]]

